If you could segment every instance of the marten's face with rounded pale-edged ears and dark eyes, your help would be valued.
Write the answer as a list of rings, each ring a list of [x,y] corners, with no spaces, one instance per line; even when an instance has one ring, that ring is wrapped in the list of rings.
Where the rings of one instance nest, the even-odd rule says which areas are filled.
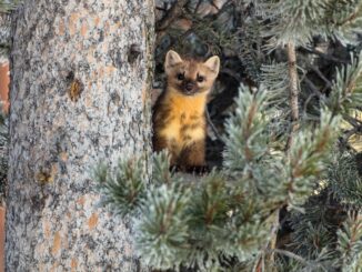
[[[184,95],[208,92],[218,77],[219,67],[220,60],[217,56],[205,62],[182,60],[177,52],[170,50],[164,62],[168,87]]]

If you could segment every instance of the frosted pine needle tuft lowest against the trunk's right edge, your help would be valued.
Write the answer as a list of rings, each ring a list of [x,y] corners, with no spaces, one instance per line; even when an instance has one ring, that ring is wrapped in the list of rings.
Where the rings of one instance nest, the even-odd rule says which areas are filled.
[[[154,269],[178,269],[187,260],[190,191],[163,184],[150,189],[135,219],[135,246],[142,261]]]

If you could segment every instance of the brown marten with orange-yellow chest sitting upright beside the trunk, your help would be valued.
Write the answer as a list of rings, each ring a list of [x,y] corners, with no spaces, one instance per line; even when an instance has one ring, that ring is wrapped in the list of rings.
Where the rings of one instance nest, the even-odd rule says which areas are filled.
[[[220,69],[217,56],[207,61],[165,56],[167,88],[153,107],[153,150],[167,149],[181,171],[207,168],[205,107]]]

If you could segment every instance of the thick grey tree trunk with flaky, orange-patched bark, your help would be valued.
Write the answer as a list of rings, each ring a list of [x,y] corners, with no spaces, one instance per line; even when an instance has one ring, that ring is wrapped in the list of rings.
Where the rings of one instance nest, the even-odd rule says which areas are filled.
[[[92,170],[149,155],[153,1],[28,0],[12,33],[7,271],[137,271]]]

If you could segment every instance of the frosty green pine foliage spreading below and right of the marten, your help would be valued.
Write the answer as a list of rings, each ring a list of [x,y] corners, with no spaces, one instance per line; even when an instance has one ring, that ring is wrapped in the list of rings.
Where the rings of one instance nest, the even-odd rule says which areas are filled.
[[[147,180],[142,159],[103,165],[95,171],[103,201],[134,222],[141,262],[152,269],[361,271],[361,165],[349,142],[362,124],[362,3],[239,4],[252,20],[233,33],[250,38],[238,56],[258,88],[241,83],[222,167],[194,179],[170,172],[162,152]],[[328,77],[318,61],[339,59],[315,51],[315,40],[348,52]],[[255,47],[263,58],[253,58]]]

